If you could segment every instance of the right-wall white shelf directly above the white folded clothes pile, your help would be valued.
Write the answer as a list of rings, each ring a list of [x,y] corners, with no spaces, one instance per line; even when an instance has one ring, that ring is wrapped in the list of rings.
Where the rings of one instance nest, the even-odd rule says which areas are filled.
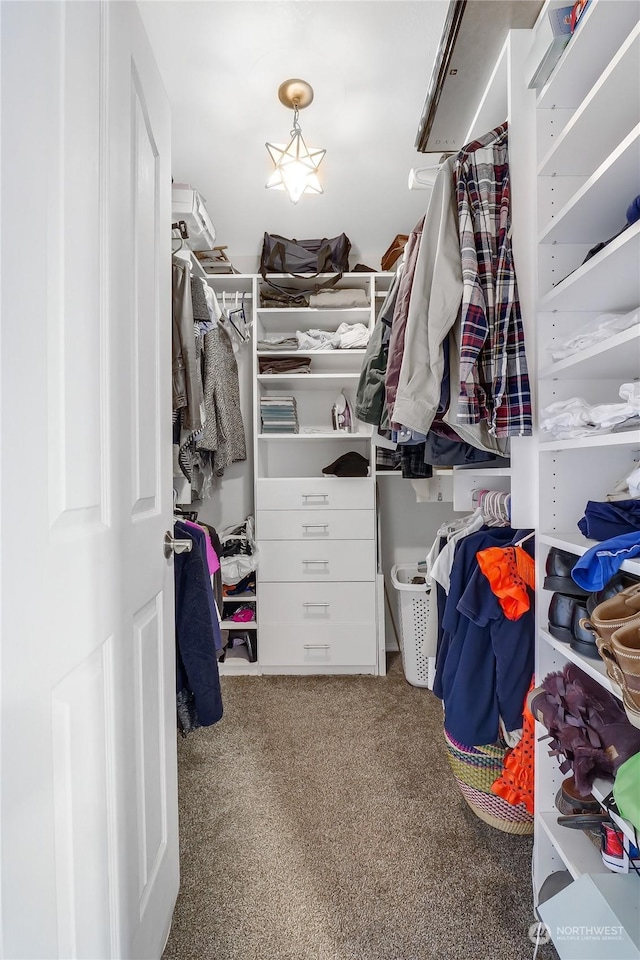
[[[640,372],[640,323],[628,330],[558,360],[540,371],[541,380],[555,380],[564,374],[581,379],[620,378],[631,380]]]

